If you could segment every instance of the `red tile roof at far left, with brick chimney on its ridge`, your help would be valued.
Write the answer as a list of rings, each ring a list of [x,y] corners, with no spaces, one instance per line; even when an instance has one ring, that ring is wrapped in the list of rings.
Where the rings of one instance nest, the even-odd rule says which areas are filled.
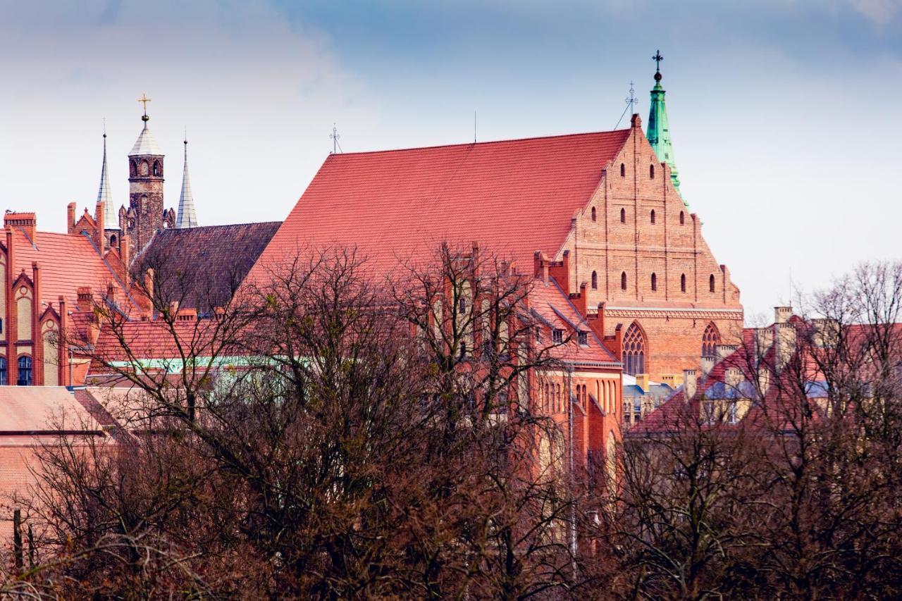
[[[74,307],[79,287],[90,286],[99,298],[113,282],[119,289],[120,303],[129,303],[115,274],[87,236],[37,232],[32,241],[20,228],[13,228],[13,245],[13,279],[23,270],[32,277],[32,262],[36,262],[42,301],[55,306],[63,296]]]

